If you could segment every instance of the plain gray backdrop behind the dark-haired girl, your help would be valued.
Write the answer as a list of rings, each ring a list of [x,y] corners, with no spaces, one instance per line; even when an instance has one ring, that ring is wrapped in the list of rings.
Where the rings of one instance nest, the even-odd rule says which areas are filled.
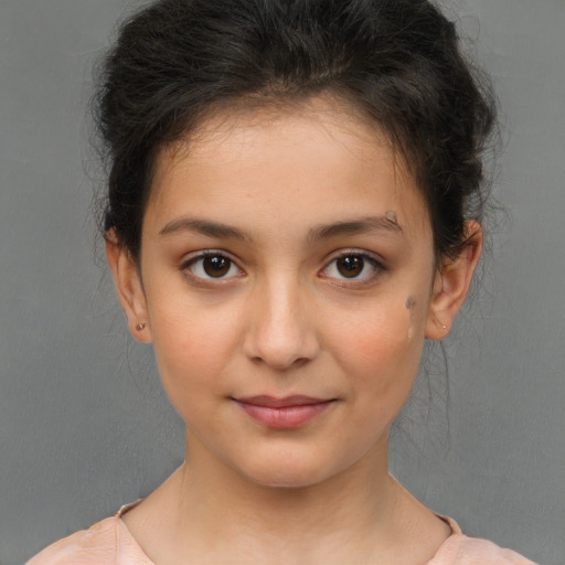
[[[467,533],[564,564],[565,1],[444,3],[494,76],[495,194],[511,217],[446,343],[449,408],[431,351],[392,469]],[[127,339],[93,260],[89,67],[128,6],[0,0],[2,565],[148,493],[182,460],[151,353]]]

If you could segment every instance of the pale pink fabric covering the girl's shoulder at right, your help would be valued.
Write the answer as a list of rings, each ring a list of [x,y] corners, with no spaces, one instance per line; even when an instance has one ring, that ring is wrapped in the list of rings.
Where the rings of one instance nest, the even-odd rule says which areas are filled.
[[[511,550],[488,540],[454,534],[438,550],[428,565],[535,565]]]

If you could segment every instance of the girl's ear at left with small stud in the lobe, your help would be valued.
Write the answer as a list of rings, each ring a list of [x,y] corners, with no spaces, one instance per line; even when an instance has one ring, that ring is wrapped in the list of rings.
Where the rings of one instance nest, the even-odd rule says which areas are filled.
[[[106,234],[106,257],[131,335],[142,343],[150,343],[151,328],[139,268],[129,250],[119,243],[114,230]]]

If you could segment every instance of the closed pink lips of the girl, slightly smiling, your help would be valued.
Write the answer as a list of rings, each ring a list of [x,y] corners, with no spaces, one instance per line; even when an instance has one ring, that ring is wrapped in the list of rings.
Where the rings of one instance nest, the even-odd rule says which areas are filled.
[[[269,428],[290,429],[305,426],[316,416],[326,412],[333,399],[310,396],[250,396],[235,398],[235,402],[253,419]]]

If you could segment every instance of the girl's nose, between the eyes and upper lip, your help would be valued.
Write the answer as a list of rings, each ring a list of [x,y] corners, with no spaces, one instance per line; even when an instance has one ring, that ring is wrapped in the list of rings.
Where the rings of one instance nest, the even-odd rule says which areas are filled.
[[[320,351],[311,305],[300,281],[291,278],[263,285],[248,305],[244,352],[277,371],[301,366]]]

